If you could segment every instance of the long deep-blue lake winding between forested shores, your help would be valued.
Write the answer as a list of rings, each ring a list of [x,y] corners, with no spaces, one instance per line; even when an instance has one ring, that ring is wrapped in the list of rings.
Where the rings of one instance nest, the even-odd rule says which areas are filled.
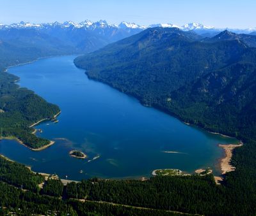
[[[154,169],[176,168],[193,173],[211,167],[220,174],[218,144],[234,138],[188,126],[154,108],[142,106],[104,83],[89,80],[76,68],[76,56],[40,59],[8,69],[20,77],[20,87],[35,91],[60,106],[58,123],[42,122],[38,136],[56,143],[34,152],[14,140],[0,141],[0,154],[31,166],[33,171],[61,178],[140,178]],[[81,150],[88,158],[70,157]],[[175,153],[173,153],[175,152]]]

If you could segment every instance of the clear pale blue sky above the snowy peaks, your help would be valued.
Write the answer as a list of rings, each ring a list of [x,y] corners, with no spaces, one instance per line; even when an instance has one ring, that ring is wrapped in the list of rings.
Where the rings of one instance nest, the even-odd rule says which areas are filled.
[[[0,23],[123,20],[141,25],[200,22],[215,27],[256,27],[256,0],[1,0]]]

